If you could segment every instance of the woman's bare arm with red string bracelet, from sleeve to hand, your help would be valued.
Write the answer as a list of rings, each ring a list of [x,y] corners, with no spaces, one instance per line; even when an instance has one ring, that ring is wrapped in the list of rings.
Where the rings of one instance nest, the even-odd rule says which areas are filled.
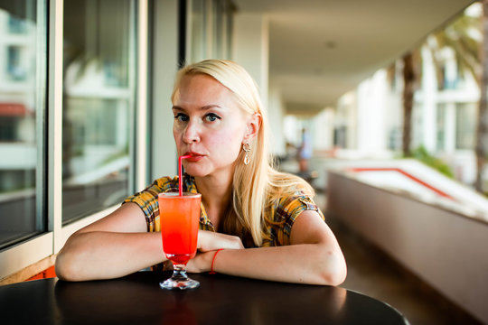
[[[346,276],[343,253],[333,232],[313,210],[303,211],[292,227],[289,246],[223,250],[213,269],[222,274],[289,283],[339,285]],[[189,271],[210,271],[215,252],[197,255]]]

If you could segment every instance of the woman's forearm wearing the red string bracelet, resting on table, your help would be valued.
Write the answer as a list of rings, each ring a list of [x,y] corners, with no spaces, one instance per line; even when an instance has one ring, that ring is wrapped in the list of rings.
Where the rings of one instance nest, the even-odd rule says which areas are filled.
[[[202,256],[205,265],[211,265],[214,254]],[[320,244],[225,249],[216,256],[213,269],[262,280],[329,285],[343,283],[346,274],[341,251]]]

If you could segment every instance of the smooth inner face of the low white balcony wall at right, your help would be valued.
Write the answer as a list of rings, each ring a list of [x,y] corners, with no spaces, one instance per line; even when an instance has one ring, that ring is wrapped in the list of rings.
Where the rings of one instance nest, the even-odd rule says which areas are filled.
[[[327,210],[488,323],[488,223],[329,172]],[[367,292],[365,292],[367,293]]]

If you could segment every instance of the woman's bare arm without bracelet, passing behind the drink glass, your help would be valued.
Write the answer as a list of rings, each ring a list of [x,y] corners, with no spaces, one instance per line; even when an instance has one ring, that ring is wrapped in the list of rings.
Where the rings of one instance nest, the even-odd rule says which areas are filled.
[[[242,248],[239,237],[199,231],[199,248]],[[144,213],[123,204],[105,218],[75,232],[56,258],[56,274],[66,281],[110,279],[163,262],[160,232],[147,232]]]

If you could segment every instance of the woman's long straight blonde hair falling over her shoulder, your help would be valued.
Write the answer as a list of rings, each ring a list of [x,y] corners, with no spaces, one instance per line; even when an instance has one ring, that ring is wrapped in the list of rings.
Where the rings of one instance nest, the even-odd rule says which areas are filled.
[[[226,218],[224,230],[241,237],[250,235],[254,245],[260,246],[267,238],[267,209],[283,195],[291,195],[301,190],[305,195],[314,196],[314,190],[303,179],[284,172],[277,172],[272,166],[268,153],[267,111],[259,98],[258,87],[239,64],[230,60],[202,60],[183,67],[174,82],[174,95],[184,76],[204,74],[216,79],[235,96],[239,107],[249,115],[259,113],[261,125],[258,135],[250,143],[250,162],[245,165],[245,153],[241,150],[232,182],[233,213],[237,218]],[[250,182],[250,185],[249,185]]]

